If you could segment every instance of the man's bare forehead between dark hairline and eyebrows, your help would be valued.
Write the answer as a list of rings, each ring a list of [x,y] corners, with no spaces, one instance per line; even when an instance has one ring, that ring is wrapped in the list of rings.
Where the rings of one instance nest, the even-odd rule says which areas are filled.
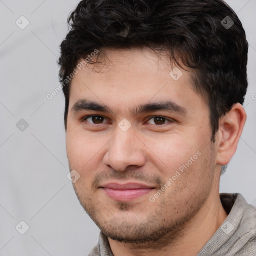
[[[149,48],[107,49],[97,61],[88,63],[72,78],[70,106],[82,97],[113,107],[118,104],[119,108],[168,99],[187,106],[195,101],[201,103],[191,70],[171,63],[166,52]]]

